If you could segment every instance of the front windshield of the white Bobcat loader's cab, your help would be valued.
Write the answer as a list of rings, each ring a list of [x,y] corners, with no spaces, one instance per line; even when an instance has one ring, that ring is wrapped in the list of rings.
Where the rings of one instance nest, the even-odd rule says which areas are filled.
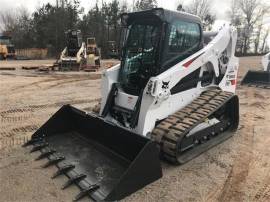
[[[157,73],[159,33],[160,25],[152,21],[128,26],[120,70],[120,84],[128,93],[138,95]]]

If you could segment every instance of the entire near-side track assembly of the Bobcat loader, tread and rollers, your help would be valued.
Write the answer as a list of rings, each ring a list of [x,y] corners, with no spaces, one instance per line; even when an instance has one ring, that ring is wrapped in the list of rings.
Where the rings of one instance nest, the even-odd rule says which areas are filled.
[[[237,96],[208,90],[161,121],[151,137],[158,142],[162,157],[184,164],[231,137],[238,127],[238,114]]]

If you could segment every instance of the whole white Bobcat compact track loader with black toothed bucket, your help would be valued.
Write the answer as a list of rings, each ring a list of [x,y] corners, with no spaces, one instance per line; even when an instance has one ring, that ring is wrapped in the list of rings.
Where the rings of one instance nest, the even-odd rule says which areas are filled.
[[[99,114],[65,105],[26,145],[79,186],[78,200],[120,200],[233,135],[237,34],[203,33],[201,20],[152,9],[121,15],[121,64],[102,77]]]

